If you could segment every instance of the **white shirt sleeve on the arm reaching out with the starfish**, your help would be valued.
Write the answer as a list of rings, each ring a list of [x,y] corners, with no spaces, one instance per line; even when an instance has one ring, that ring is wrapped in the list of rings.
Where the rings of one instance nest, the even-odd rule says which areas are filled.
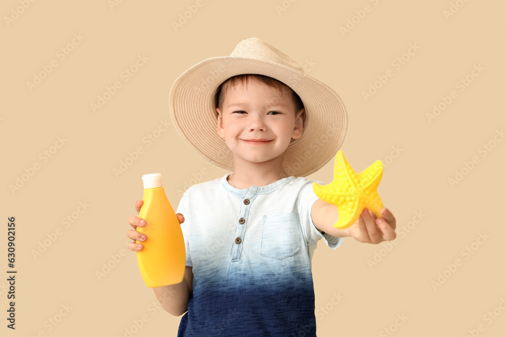
[[[302,230],[304,230],[305,240],[309,245],[315,245],[321,238],[331,249],[336,249],[343,242],[343,237],[336,237],[328,233],[319,231],[314,223],[312,222],[312,205],[318,200],[318,196],[314,193],[314,188],[312,184],[317,182],[324,185],[323,182],[318,180],[308,180],[307,184],[302,187],[298,202],[298,214],[300,215],[300,221],[302,225]]]

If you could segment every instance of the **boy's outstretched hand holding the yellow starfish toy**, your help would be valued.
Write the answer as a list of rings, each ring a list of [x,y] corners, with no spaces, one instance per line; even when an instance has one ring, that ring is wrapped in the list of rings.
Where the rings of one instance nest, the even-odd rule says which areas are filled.
[[[350,236],[358,242],[367,244],[379,244],[383,241],[390,241],[396,238],[394,229],[396,219],[387,208],[380,211],[382,217],[377,218],[368,209],[364,209],[358,220],[349,228]]]

